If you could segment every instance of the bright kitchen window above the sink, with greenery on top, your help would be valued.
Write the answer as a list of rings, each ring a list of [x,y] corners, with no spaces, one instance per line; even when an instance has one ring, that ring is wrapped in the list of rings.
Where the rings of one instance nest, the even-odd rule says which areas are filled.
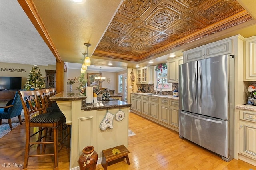
[[[172,91],[172,83],[167,82],[167,64],[159,64],[154,67],[154,90]]]

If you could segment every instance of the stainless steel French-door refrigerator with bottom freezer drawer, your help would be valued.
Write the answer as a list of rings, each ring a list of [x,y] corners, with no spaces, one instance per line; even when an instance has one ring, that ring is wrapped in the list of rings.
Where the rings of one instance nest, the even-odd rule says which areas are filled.
[[[179,104],[180,138],[232,160],[234,58],[223,55],[180,65]]]

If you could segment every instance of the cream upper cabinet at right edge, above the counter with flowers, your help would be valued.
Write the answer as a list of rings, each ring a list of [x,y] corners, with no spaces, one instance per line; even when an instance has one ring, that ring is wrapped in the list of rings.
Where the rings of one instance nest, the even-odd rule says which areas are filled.
[[[244,81],[256,81],[256,36],[245,39]]]

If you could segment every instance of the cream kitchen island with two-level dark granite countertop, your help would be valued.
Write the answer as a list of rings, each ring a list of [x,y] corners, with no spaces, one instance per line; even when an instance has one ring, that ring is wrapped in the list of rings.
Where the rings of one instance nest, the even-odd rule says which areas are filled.
[[[98,164],[102,160],[102,150],[122,144],[128,147],[128,113],[131,104],[120,100],[86,104],[86,96],[79,91],[62,91],[50,97],[50,100],[56,101],[66,117],[66,124],[72,125],[70,169],[79,169],[78,158],[86,146],[94,146],[98,153]],[[117,121],[118,111],[123,111],[124,117]],[[107,112],[112,115],[112,128],[101,130],[100,125]]]

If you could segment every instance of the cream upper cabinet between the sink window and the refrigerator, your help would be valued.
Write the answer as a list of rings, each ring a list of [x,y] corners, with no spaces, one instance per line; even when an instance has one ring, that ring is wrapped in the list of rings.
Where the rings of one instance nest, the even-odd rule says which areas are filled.
[[[179,65],[183,64],[183,56],[167,60],[167,81],[168,83],[179,82]]]

